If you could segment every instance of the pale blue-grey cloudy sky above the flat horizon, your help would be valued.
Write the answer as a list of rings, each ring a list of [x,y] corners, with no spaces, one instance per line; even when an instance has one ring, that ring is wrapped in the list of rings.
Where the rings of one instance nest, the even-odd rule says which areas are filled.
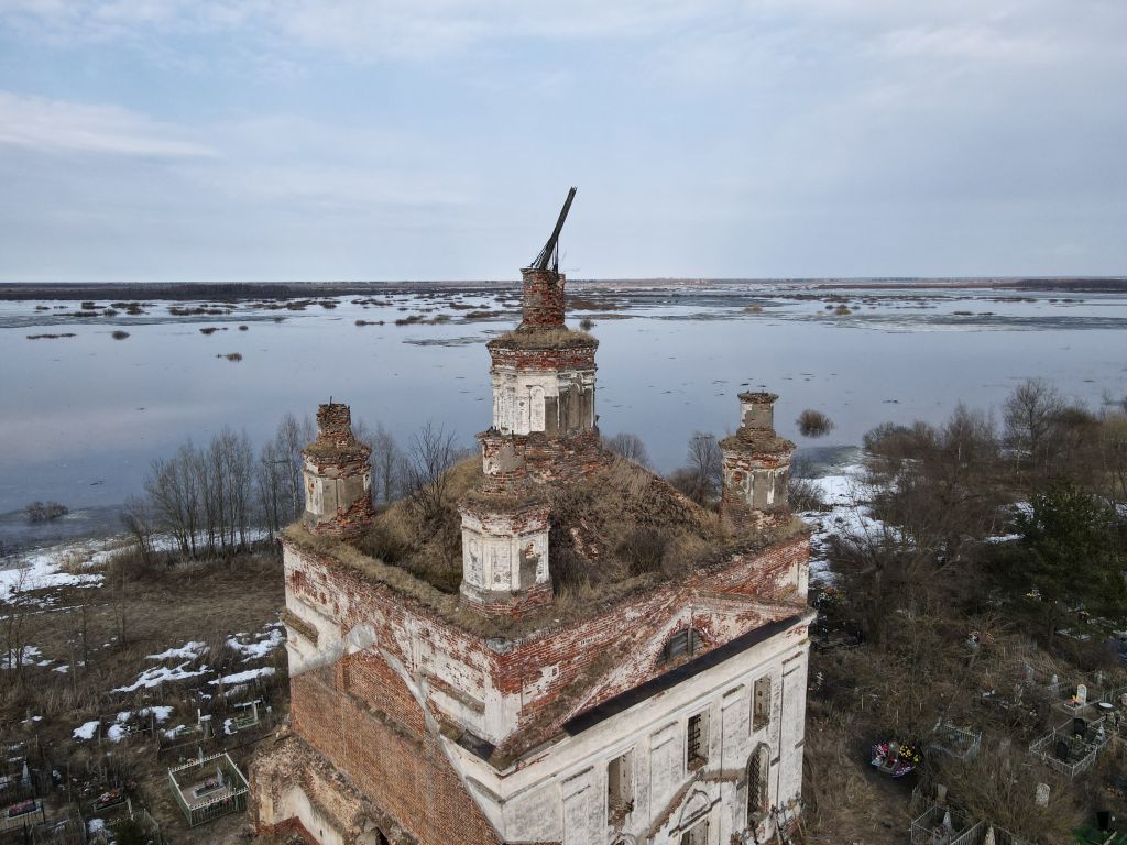
[[[1125,0],[0,0],[0,279],[1127,273]]]

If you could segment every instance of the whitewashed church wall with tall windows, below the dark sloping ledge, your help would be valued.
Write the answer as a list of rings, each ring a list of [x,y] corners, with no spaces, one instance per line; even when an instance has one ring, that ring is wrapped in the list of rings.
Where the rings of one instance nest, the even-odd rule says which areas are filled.
[[[498,775],[453,744],[451,757],[490,821],[512,842],[612,845],[629,834],[641,843],[655,820],[667,816],[655,843],[669,836],[680,842],[682,821],[707,818],[710,845],[727,845],[747,824],[746,766],[761,744],[770,753],[769,803],[784,806],[800,795],[807,658],[805,641],[780,633],[556,742],[511,772]],[[771,717],[753,729],[754,683],[762,677],[771,678]],[[686,771],[685,733],[689,718],[700,712],[708,714],[709,755],[698,777]],[[628,751],[635,809],[616,830],[607,825],[607,766]],[[687,806],[693,794],[700,795],[696,804],[707,799],[710,809],[683,819],[682,811],[699,809]]]

